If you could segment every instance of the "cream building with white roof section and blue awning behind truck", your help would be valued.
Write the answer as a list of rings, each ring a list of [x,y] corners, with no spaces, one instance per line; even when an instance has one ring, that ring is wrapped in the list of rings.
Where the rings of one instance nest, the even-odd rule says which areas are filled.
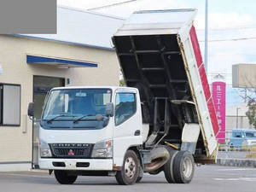
[[[0,35],[0,171],[29,170],[38,160],[38,123],[26,115],[55,86],[118,85],[111,37],[121,18],[57,9],[57,34]]]

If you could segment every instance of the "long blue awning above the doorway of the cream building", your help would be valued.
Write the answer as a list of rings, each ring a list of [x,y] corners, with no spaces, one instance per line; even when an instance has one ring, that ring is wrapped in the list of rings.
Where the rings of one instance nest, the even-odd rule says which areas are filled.
[[[85,61],[73,61],[64,59],[55,59],[44,56],[26,55],[26,63],[54,65],[57,67],[97,67],[95,63]]]

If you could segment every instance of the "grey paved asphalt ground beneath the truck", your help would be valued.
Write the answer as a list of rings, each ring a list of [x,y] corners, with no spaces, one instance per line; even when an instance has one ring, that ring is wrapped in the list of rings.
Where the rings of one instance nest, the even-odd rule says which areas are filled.
[[[141,183],[120,186],[114,177],[79,177],[73,185],[60,185],[44,172],[0,172],[0,192],[255,192],[256,168],[230,166],[195,167],[189,184],[166,183],[163,172],[145,174]]]

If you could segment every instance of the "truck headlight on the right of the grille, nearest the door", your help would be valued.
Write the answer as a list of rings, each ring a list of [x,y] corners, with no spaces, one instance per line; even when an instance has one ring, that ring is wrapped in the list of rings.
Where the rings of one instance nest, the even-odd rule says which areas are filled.
[[[92,158],[111,158],[113,157],[113,141],[103,141],[96,143],[91,154]]]

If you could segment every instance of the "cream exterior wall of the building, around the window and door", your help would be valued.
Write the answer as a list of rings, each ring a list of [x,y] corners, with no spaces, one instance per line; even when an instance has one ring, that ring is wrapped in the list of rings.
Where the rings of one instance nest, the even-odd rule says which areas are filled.
[[[0,35],[0,83],[21,85],[19,127],[0,126],[0,164],[32,160],[32,121],[26,116],[32,102],[33,75],[70,79],[70,85],[118,85],[119,64],[112,50],[94,49],[33,38]],[[90,61],[98,67],[58,68],[27,64],[26,55]]]

